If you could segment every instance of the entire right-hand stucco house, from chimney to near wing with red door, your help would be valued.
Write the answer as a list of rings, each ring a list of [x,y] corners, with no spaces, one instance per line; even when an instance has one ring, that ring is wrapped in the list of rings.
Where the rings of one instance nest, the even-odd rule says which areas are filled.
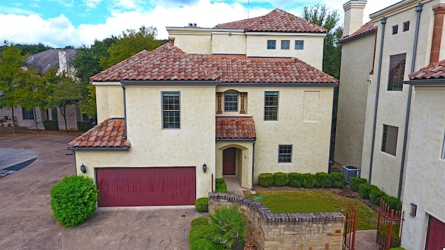
[[[365,6],[343,5],[335,160],[403,201],[402,247],[442,249],[445,3],[400,1],[362,25]]]

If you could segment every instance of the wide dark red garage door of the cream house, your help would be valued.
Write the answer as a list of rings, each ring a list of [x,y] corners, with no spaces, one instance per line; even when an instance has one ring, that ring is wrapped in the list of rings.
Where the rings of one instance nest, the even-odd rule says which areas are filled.
[[[99,206],[193,205],[195,167],[97,168]]]

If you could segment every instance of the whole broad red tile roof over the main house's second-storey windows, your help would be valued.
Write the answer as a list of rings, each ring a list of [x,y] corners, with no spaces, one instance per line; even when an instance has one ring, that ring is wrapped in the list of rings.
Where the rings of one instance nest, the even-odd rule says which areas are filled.
[[[227,83],[337,83],[297,58],[187,54],[172,44],[141,51],[90,81],[222,81]]]

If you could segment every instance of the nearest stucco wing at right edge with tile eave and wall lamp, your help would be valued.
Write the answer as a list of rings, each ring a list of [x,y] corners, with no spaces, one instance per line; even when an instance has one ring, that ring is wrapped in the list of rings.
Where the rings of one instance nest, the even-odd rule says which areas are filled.
[[[445,60],[410,74],[405,83],[416,94],[407,147],[402,247],[444,249]],[[412,206],[416,214],[410,216]]]

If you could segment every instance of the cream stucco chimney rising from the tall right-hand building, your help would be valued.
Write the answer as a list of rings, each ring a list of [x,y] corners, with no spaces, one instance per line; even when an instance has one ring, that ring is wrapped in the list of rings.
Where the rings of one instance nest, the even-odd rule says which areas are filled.
[[[363,10],[366,2],[366,0],[350,0],[343,4],[343,10],[345,11],[343,37],[354,33],[362,26]]]

